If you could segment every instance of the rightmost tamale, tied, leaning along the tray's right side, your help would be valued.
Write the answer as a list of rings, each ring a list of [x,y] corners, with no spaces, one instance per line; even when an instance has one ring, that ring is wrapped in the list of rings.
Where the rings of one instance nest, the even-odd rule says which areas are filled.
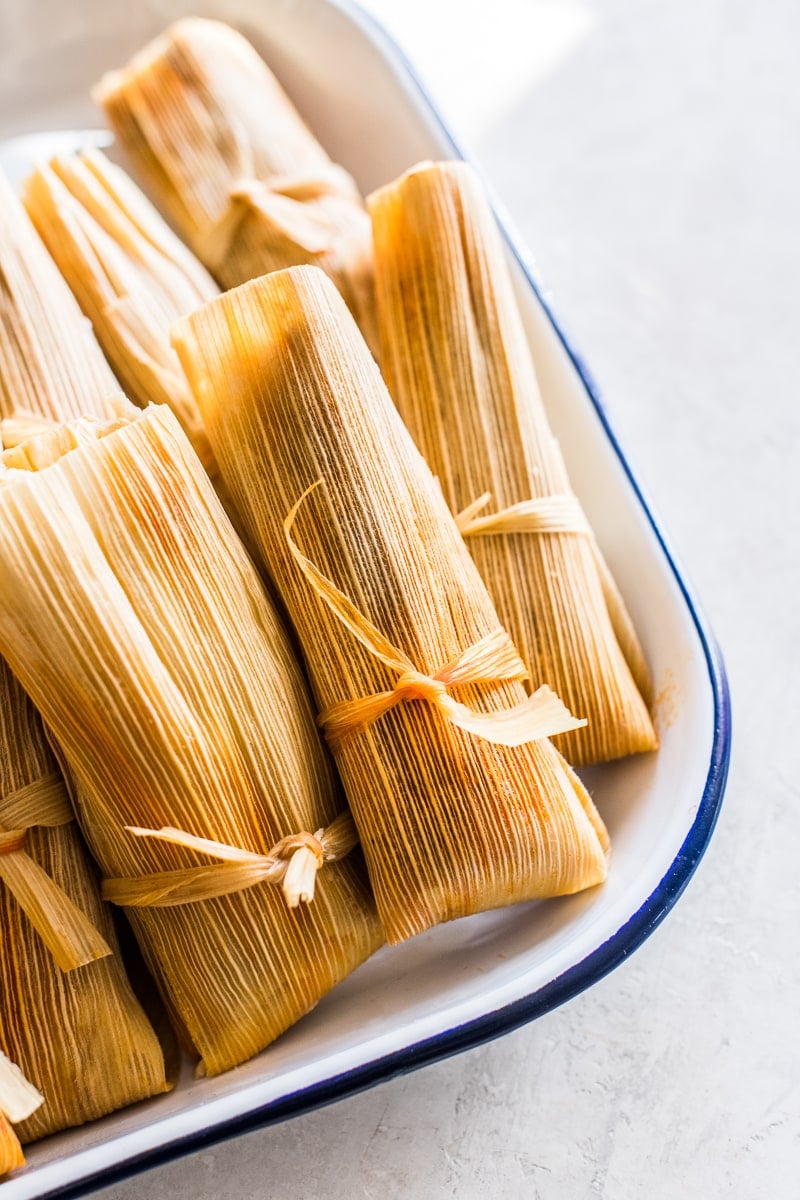
[[[644,655],[570,487],[477,176],[422,164],[369,211],[389,390],[533,684],[588,719],[557,745],[578,764],[655,749]]]

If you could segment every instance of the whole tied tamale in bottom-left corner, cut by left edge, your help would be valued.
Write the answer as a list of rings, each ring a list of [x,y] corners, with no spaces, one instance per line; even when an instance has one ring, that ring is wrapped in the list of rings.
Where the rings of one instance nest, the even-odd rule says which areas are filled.
[[[41,719],[2,661],[0,997],[0,1049],[46,1097],[16,1124],[23,1141],[168,1090]]]

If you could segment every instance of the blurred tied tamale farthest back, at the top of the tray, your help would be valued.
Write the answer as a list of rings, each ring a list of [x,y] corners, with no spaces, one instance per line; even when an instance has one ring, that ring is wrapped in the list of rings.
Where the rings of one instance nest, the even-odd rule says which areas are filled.
[[[313,263],[374,344],[361,197],[240,34],[179,20],[95,96],[158,206],[223,287]]]

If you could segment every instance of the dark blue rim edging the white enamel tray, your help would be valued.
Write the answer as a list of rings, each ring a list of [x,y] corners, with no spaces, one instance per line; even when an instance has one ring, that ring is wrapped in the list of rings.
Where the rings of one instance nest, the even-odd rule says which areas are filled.
[[[450,133],[438,106],[428,95],[427,89],[419,79],[414,67],[408,61],[403,50],[386,32],[383,25],[369,13],[365,12],[363,8],[354,2],[354,0],[327,0],[327,2],[331,4],[332,7],[339,8],[344,12],[354,24],[369,35],[372,42],[378,46],[385,58],[395,66],[398,74],[405,76],[407,82],[411,85],[411,90],[416,92],[417,98],[426,104],[431,119],[438,125],[440,134],[449,142],[452,157],[465,158],[467,155],[462,152],[458,143]],[[487,191],[492,193],[489,187],[487,187]],[[642,946],[642,943],[650,936],[654,929],[661,924],[663,918],[673,907],[694,874],[697,864],[705,852],[711,834],[714,833],[717,816],[720,815],[724,786],[728,778],[728,763],[730,760],[730,694],[722,655],[714,635],[708,628],[704,618],[700,616],[697,602],[692,598],[686,582],[681,577],[672,552],[664,541],[663,534],[658,529],[650,508],[642,494],[639,485],[628,467],[625,455],[622,454],[619,442],[616,440],[616,436],[608,422],[606,410],[594,380],[591,379],[582,359],[578,354],[576,354],[575,349],[567,341],[560,322],[553,313],[551,304],[545,298],[540,284],[534,277],[530,263],[517,246],[513,236],[510,234],[507,222],[503,218],[500,211],[501,205],[497,203],[494,196],[492,196],[492,203],[509,248],[519,264],[527,282],[541,304],[545,314],[551,322],[561,346],[564,347],[564,350],[572,362],[572,366],[577,371],[587,395],[597,412],[597,416],[600,418],[606,436],[616,454],[631,487],[633,488],[633,492],[636,493],[636,497],[652,528],[658,545],[669,563],[681,595],[694,623],[694,628],[697,629],[700,646],[703,647],[709,672],[709,680],[711,684],[711,692],[714,696],[714,742],[711,745],[711,756],[709,761],[708,775],[705,778],[705,786],[703,788],[703,796],[700,798],[692,828],[687,833],[682,846],[673,859],[669,870],[663,876],[658,886],[650,893],[640,908],[633,913],[633,916],[620,929],[618,929],[615,934],[603,942],[602,946],[599,946],[597,949],[591,952],[591,954],[588,954],[585,959],[577,962],[575,966],[569,967],[560,976],[558,976],[558,978],[552,979],[549,983],[539,988],[529,996],[523,996],[521,1000],[516,1000],[495,1012],[485,1013],[482,1016],[467,1021],[464,1025],[458,1025],[452,1030],[446,1030],[444,1033],[437,1033],[434,1037],[426,1038],[425,1040],[417,1042],[410,1046],[404,1046],[402,1050],[396,1050],[381,1058],[375,1058],[374,1061],[363,1063],[360,1067],[354,1067],[353,1070],[344,1072],[341,1075],[335,1075],[332,1079],[323,1080],[321,1082],[303,1088],[300,1092],[293,1092],[290,1096],[281,1097],[277,1100],[270,1100],[267,1104],[252,1109],[249,1112],[241,1114],[237,1117],[231,1117],[229,1121],[219,1121],[207,1129],[187,1134],[185,1138],[178,1138],[163,1146],[157,1146],[152,1150],[145,1151],[143,1154],[126,1158],[125,1162],[120,1163],[118,1166],[102,1168],[96,1174],[84,1176],[84,1178],[77,1180],[74,1183],[67,1184],[66,1187],[41,1193],[40,1200],[50,1200],[50,1198],[52,1200],[55,1200],[56,1196],[58,1200],[74,1200],[74,1198],[85,1196],[98,1188],[110,1187],[112,1184],[130,1178],[140,1171],[145,1171],[155,1166],[162,1166],[175,1158],[197,1153],[198,1151],[213,1146],[217,1142],[227,1141],[230,1138],[236,1138],[245,1133],[252,1133],[255,1129],[261,1129],[270,1124],[278,1124],[281,1121],[285,1121],[289,1117],[301,1116],[303,1112],[309,1112],[314,1109],[323,1108],[326,1104],[332,1104],[335,1100],[354,1096],[356,1092],[366,1091],[377,1084],[383,1084],[386,1080],[397,1078],[398,1075],[408,1074],[411,1070],[416,1070],[419,1067],[427,1067],[433,1062],[438,1062],[441,1058],[449,1058],[452,1055],[461,1054],[463,1050],[470,1050],[485,1042],[492,1042],[494,1038],[510,1033],[512,1030],[519,1028],[522,1025],[527,1025],[537,1016],[543,1016],[545,1013],[551,1012],[553,1008],[558,1008],[560,1004],[564,1004],[566,1001],[572,1000],[579,992],[584,991],[591,984],[597,983],[599,979],[602,979],[603,976],[613,971],[620,962],[627,959],[633,950]]]

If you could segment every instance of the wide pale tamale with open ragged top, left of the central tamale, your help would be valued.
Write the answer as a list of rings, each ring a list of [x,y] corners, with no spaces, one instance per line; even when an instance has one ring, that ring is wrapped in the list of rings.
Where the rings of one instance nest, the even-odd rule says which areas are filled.
[[[166,406],[2,463],[0,652],[70,764],[104,894],[217,1074],[383,940],[359,853],[335,860],[344,802],[307,685]],[[324,858],[289,908],[271,881],[296,902]]]

